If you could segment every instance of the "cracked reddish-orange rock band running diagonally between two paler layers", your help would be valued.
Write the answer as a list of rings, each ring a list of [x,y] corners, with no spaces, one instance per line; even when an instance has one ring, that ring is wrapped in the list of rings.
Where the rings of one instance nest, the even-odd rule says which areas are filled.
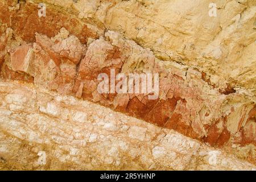
[[[221,92],[205,73],[163,61],[148,48],[117,32],[93,27],[61,9],[48,9],[38,18],[36,3],[9,11],[12,1],[0,1],[0,68],[5,80],[34,82],[121,111],[161,127],[174,129],[211,146],[255,161],[256,105],[233,88]],[[159,98],[147,94],[100,94],[97,76],[159,73]]]

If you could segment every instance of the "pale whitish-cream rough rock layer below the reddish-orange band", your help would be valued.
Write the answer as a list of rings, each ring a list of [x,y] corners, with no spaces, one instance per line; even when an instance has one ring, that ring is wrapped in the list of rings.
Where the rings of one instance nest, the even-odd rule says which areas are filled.
[[[0,169],[255,170],[174,130],[72,96],[0,82]]]

